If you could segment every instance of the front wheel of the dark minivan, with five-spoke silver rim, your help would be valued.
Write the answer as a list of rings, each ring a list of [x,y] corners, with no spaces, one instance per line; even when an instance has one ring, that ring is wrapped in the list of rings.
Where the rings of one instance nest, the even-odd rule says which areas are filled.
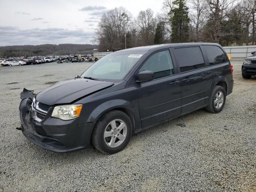
[[[92,144],[102,153],[114,154],[127,146],[131,136],[132,122],[129,116],[122,111],[112,110],[105,113],[96,123],[92,133]]]

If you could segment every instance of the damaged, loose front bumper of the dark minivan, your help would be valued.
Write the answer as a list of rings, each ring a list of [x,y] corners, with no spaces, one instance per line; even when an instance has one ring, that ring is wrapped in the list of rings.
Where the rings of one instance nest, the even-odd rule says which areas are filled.
[[[24,89],[19,106],[21,130],[32,143],[54,152],[70,152],[90,146],[90,138],[94,123],[78,124],[74,120],[60,120],[49,114],[41,122],[32,117],[32,102],[36,94]],[[48,113],[51,113],[51,109]]]

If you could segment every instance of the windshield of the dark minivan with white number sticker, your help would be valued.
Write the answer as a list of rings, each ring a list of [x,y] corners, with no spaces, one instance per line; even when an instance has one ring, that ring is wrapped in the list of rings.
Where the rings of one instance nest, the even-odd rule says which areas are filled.
[[[114,52],[102,57],[80,77],[91,77],[99,80],[122,80],[146,51]]]

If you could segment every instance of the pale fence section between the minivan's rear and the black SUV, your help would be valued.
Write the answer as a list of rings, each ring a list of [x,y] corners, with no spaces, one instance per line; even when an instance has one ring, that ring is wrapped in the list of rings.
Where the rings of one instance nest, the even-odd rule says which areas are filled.
[[[231,54],[232,59],[244,59],[251,56],[252,51],[256,51],[256,45],[223,47],[227,54]]]

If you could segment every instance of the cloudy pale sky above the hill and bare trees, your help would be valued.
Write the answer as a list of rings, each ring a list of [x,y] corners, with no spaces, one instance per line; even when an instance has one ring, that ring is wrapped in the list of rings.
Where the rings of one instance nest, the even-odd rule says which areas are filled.
[[[123,6],[133,16],[162,0],[0,0],[0,46],[92,44],[102,14]]]

